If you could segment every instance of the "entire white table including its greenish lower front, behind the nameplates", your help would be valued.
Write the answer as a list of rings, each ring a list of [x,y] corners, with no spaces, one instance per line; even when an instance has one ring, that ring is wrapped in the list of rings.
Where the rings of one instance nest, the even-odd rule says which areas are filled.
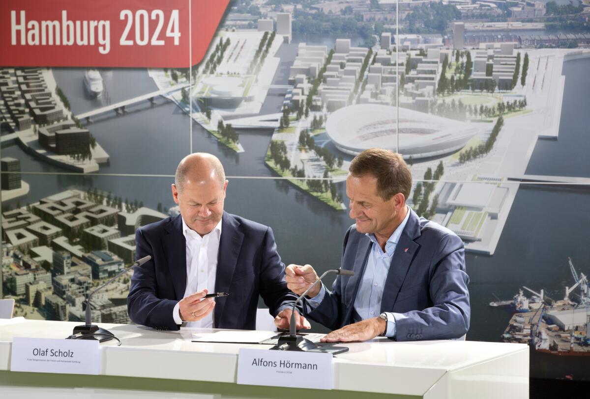
[[[0,320],[2,391],[8,393],[6,390],[10,389],[15,393],[38,395],[40,392],[35,393],[35,390],[42,388],[45,392],[47,387],[54,387],[64,390],[61,394],[76,392],[79,397],[80,391],[72,388],[84,386],[106,388],[101,391],[106,397],[108,393],[117,397],[117,392],[120,396],[122,389],[133,397],[134,392],[149,389],[185,393],[179,397],[211,397],[211,394],[272,397],[272,393],[276,393],[281,397],[343,398],[359,397],[359,393],[363,393],[361,397],[397,394],[427,399],[527,398],[529,394],[529,347],[524,344],[398,343],[384,339],[346,344],[349,351],[334,358],[334,391],[293,390],[236,384],[238,350],[244,347],[268,349],[270,345],[193,343],[190,340],[195,331],[192,330],[156,331],[124,324],[101,324],[119,337],[122,345],[115,346],[114,340],[101,344],[100,376],[9,371],[12,338],[65,338],[78,324],[20,317]],[[103,376],[112,378],[101,378]],[[102,398],[101,395],[96,397]]]

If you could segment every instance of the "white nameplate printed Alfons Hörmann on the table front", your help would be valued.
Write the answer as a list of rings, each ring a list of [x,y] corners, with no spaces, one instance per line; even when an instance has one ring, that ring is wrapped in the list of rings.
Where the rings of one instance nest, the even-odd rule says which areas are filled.
[[[331,390],[332,355],[240,349],[238,384]]]

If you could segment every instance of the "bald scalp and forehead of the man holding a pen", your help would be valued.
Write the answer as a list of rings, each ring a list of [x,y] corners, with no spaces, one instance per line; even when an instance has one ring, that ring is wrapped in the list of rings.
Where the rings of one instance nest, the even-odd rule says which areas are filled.
[[[195,152],[182,159],[176,168],[174,184],[179,192],[186,182],[207,182],[216,179],[221,188],[225,185],[225,171],[221,161],[207,152]]]

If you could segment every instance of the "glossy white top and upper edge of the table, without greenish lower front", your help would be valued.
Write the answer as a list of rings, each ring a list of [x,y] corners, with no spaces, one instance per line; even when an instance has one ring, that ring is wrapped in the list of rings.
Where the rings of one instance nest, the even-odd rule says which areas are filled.
[[[0,370],[10,370],[12,338],[61,339],[78,324],[24,318],[0,320]],[[122,341],[119,347],[114,340],[101,344],[103,375],[235,384],[240,348],[271,347],[191,342],[199,334],[218,330],[156,331],[122,324],[100,327]],[[335,390],[425,398],[528,395],[527,345],[477,341],[398,343],[383,338],[339,345],[347,346],[349,351],[334,357]]]

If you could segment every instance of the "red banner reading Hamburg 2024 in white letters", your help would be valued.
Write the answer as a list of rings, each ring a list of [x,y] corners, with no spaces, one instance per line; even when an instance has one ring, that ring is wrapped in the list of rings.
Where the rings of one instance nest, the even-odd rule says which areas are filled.
[[[230,0],[2,0],[0,66],[188,68]]]

